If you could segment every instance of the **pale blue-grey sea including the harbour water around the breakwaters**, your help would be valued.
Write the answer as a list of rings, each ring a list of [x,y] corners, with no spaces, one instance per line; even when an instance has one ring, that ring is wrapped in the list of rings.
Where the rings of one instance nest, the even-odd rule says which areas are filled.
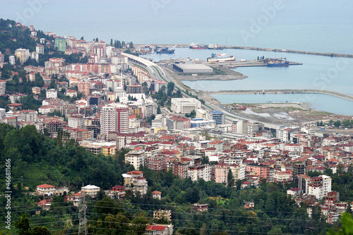
[[[1,0],[0,18],[44,32],[135,44],[222,44],[353,54],[350,0]],[[160,59],[206,59],[210,50],[177,48]],[[237,68],[244,80],[185,82],[196,90],[322,89],[353,95],[353,59],[227,49],[237,59],[286,57],[287,68]],[[216,96],[215,96],[216,97]],[[353,102],[330,95],[217,95],[221,102],[306,101],[318,110],[353,115]],[[337,100],[338,99],[338,100]]]

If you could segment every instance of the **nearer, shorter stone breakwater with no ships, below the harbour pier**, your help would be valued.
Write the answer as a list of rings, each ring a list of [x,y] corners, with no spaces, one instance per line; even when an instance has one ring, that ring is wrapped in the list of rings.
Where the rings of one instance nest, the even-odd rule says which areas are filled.
[[[341,92],[335,92],[332,90],[315,90],[315,89],[280,89],[280,90],[221,90],[217,92],[210,92],[210,94],[295,94],[295,93],[317,93],[324,95],[333,95],[340,97],[345,100],[352,100],[353,95],[347,95]]]

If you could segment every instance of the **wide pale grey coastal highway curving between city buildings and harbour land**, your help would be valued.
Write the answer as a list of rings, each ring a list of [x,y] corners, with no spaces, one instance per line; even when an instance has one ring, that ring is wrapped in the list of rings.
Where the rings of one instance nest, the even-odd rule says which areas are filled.
[[[141,58],[139,56],[134,56],[132,54],[126,54],[126,53],[121,53],[121,55],[127,56],[130,61],[135,61],[140,64],[143,64],[148,71],[150,72],[150,75],[158,80],[164,80],[165,82],[173,82],[175,85],[175,88],[178,88],[184,95],[184,97],[191,98],[190,95],[187,95],[186,92],[184,92],[185,88],[182,88],[181,85],[179,85],[178,81],[169,76],[167,72],[164,71],[163,68],[161,68],[158,64],[153,63],[152,61],[149,61],[148,59]],[[191,91],[190,92],[192,95],[196,95],[195,92]],[[215,105],[212,103],[208,104],[202,104],[201,105],[204,109],[206,110],[212,110],[212,111],[220,111],[225,113],[227,121],[234,121],[237,119],[242,119],[246,121],[251,121],[251,122],[258,122],[256,120],[252,119],[246,119],[243,116],[240,116],[239,114],[234,114],[231,110],[223,107],[222,105]],[[279,125],[275,125],[273,123],[263,123],[266,128],[272,128],[272,129],[279,129]]]

